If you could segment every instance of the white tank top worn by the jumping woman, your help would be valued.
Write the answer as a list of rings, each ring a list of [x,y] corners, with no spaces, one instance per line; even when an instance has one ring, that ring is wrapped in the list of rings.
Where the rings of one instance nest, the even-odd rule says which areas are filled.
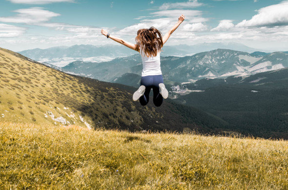
[[[142,77],[149,75],[162,75],[160,67],[160,51],[155,57],[147,57],[142,49],[140,49],[140,54],[143,63]]]

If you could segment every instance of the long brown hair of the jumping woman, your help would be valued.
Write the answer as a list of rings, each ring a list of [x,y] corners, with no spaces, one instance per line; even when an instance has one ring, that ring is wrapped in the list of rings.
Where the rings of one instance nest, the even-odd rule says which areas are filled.
[[[147,57],[156,56],[163,47],[162,33],[154,27],[137,32],[136,51],[142,49]]]

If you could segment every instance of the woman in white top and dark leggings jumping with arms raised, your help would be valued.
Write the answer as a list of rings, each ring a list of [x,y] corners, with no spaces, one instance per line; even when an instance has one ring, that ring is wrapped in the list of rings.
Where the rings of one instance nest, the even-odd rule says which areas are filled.
[[[143,63],[142,77],[140,87],[133,94],[133,100],[137,101],[139,99],[142,106],[148,104],[151,88],[153,89],[153,103],[155,106],[161,106],[163,98],[166,99],[168,97],[168,91],[163,84],[160,52],[165,42],[184,20],[185,16],[181,15],[178,18],[178,22],[163,37],[162,33],[154,27],[140,29],[135,38],[136,44],[126,42],[123,39],[111,36],[106,30],[101,30],[101,34],[107,38],[111,38],[115,42],[121,43],[141,54]]]

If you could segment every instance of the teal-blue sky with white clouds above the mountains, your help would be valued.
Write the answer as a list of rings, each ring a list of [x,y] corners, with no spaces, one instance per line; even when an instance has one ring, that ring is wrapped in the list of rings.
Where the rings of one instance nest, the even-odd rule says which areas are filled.
[[[165,34],[186,19],[167,45],[236,42],[288,51],[288,0],[0,0],[0,47],[13,51],[75,44],[135,42],[151,26]]]

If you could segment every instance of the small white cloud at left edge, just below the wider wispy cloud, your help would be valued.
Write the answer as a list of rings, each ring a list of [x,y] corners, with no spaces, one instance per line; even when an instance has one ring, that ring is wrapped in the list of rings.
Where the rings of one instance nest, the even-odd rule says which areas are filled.
[[[25,32],[25,28],[0,23],[0,38],[13,38],[21,36]]]

